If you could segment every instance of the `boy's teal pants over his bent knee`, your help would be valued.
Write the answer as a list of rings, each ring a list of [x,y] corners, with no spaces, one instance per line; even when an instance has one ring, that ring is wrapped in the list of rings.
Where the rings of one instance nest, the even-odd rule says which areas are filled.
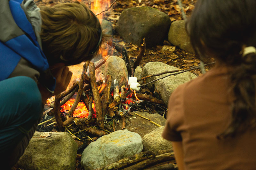
[[[32,78],[0,81],[0,159],[6,169],[22,156],[42,114],[41,93]]]

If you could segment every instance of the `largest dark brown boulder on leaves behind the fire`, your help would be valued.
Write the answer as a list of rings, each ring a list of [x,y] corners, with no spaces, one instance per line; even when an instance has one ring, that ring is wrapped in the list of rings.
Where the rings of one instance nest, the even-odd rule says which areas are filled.
[[[167,38],[171,20],[167,14],[144,6],[125,9],[115,26],[127,42],[140,45],[145,37],[146,47],[160,45]]]

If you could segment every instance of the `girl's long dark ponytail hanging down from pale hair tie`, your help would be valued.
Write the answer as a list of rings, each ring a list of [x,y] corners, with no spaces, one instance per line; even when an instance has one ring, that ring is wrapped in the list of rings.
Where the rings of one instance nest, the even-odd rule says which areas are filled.
[[[251,50],[249,49],[251,48]],[[249,50],[248,50],[249,49]],[[246,47],[242,62],[231,71],[231,88],[235,95],[232,103],[232,120],[228,128],[217,138],[235,137],[256,125],[256,49]]]

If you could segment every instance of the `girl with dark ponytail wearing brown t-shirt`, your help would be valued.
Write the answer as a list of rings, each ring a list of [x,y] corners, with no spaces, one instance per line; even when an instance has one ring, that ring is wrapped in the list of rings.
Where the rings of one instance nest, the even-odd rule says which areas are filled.
[[[216,65],[170,97],[163,137],[180,170],[256,168],[255,8],[255,0],[196,2],[190,40]]]

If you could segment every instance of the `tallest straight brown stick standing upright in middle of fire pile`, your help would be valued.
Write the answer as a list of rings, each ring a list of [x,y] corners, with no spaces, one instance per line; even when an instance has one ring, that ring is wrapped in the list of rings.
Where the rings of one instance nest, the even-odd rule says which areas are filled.
[[[97,123],[100,124],[100,129],[103,129],[104,122],[103,122],[101,103],[100,103],[100,93],[99,93],[99,90],[98,90],[97,84],[96,84],[94,63],[92,63],[92,62],[90,63],[90,78],[91,78],[92,93],[93,93],[93,97],[94,97]]]

